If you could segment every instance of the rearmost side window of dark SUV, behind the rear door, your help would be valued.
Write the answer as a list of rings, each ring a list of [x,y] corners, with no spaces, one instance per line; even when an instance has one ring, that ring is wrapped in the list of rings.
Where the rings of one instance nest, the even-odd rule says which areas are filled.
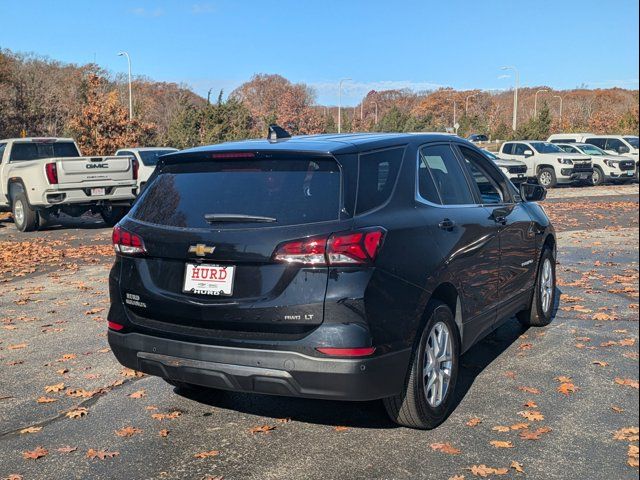
[[[398,178],[404,147],[360,155],[356,215],[385,203]]]

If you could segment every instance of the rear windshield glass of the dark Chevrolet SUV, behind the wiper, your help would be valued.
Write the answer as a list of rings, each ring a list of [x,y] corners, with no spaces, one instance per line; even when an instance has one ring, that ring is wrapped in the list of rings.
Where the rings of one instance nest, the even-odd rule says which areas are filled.
[[[330,159],[182,163],[163,169],[130,216],[186,228],[219,228],[220,223],[205,220],[215,215],[274,219],[231,220],[243,227],[324,222],[339,218],[340,191],[340,170]]]

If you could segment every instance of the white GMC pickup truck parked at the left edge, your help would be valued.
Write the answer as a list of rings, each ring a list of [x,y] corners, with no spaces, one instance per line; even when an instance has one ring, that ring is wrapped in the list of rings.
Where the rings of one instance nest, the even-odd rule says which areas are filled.
[[[36,230],[50,215],[100,213],[115,225],[135,199],[131,157],[83,157],[70,138],[0,140],[0,210],[18,230]]]

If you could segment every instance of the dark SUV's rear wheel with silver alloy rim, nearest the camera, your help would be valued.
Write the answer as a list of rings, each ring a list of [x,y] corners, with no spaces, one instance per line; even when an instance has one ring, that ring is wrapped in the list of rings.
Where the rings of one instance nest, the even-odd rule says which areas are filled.
[[[404,390],[383,400],[389,417],[410,428],[435,428],[447,418],[458,378],[460,342],[453,313],[439,301],[429,311]]]

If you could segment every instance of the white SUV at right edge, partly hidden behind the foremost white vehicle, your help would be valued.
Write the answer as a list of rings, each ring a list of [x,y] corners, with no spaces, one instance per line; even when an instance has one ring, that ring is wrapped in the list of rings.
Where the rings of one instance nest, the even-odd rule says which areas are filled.
[[[632,158],[611,155],[590,143],[556,143],[567,153],[589,155],[593,162],[592,183],[631,182],[636,176],[636,162]]]

